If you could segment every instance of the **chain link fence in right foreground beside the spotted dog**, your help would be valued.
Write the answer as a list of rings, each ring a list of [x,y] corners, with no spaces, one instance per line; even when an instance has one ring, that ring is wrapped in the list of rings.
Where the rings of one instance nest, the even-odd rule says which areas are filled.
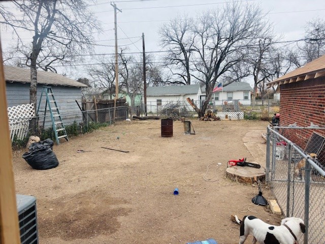
[[[299,243],[325,243],[325,128],[268,127],[266,181],[286,217],[306,225]]]

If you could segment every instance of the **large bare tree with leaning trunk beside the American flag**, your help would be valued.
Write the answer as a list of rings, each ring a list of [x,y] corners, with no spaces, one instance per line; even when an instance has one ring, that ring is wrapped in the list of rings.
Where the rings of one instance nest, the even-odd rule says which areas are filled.
[[[193,76],[204,83],[206,89],[202,107],[194,108],[199,116],[205,113],[216,81],[244,62],[247,48],[262,33],[265,23],[259,7],[239,2],[226,4],[223,9],[208,11],[199,17],[194,28],[196,42],[193,49],[198,61],[193,60]]]

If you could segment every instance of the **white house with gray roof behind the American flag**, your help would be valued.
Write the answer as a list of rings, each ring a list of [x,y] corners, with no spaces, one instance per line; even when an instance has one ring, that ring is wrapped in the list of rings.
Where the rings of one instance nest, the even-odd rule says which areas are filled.
[[[219,83],[215,85],[217,87]],[[252,87],[247,82],[233,82],[227,86],[222,87],[221,90],[212,94],[211,102],[214,105],[222,105],[238,101],[243,105],[250,105],[250,94],[253,91]],[[205,87],[202,87],[201,100],[205,100]]]

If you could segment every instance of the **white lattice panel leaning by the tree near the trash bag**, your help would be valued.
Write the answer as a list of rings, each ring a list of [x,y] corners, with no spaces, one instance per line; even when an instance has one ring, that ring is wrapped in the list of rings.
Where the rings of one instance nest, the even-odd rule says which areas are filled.
[[[34,104],[22,104],[7,109],[11,141],[16,135],[23,140],[28,133],[29,120],[35,117]]]

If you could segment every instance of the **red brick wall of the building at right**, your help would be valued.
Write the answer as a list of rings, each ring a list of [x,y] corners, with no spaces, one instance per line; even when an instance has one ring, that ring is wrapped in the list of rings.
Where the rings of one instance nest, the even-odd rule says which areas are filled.
[[[325,77],[282,84],[280,94],[280,126],[325,127]],[[283,135],[304,149],[313,131],[325,136],[324,130],[284,130]]]

